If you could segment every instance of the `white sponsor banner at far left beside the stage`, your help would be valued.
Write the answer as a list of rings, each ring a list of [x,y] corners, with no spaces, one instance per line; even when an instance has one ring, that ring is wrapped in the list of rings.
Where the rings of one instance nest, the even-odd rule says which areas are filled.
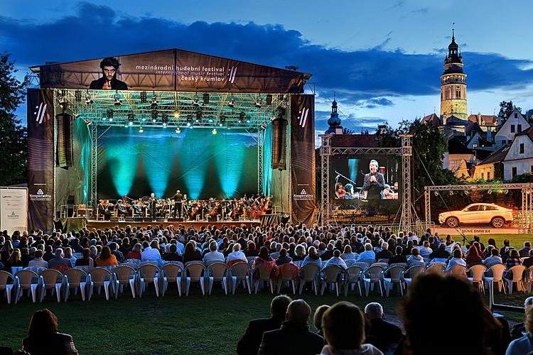
[[[28,189],[0,187],[0,229],[10,235],[28,229]]]

